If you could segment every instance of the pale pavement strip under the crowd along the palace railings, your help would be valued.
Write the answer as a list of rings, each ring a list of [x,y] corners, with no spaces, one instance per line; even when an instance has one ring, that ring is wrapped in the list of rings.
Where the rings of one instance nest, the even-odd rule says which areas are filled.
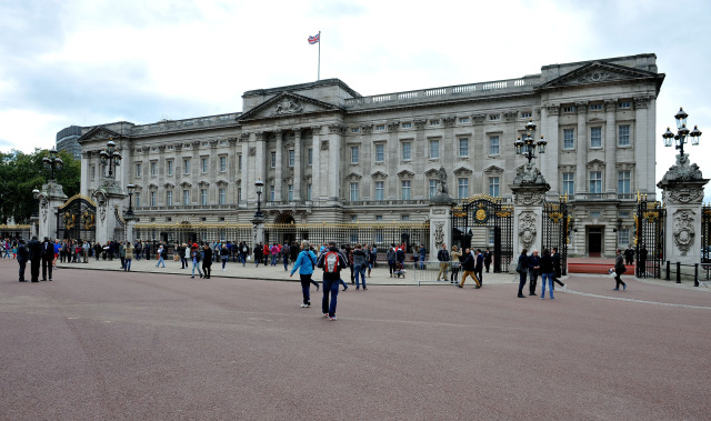
[[[166,261],[166,268],[156,268],[157,260],[144,260],[140,261],[133,259],[131,261],[131,272],[148,272],[148,273],[171,273],[171,274],[182,274],[186,277],[190,277],[192,273],[191,268],[192,263],[189,264],[186,269],[180,269],[180,261]],[[111,271],[123,271],[121,269],[121,260],[96,260],[89,259],[88,263],[59,263],[57,262],[57,267],[60,271],[67,269],[92,269],[92,270],[111,270]],[[262,265],[260,264],[258,268],[254,267],[254,262],[247,262],[244,267],[242,263],[232,262],[231,260],[227,263],[226,270],[222,270],[222,261],[212,262],[212,278],[234,278],[234,279],[259,279],[266,281],[293,281],[299,282],[299,271],[293,274],[293,278],[289,278],[291,273],[292,264],[289,264],[289,271],[284,271],[283,263],[278,264],[276,267],[271,265]],[[431,284],[431,285],[451,285],[450,282],[435,282],[433,281],[437,277],[439,265],[437,262],[432,262],[429,264],[429,268],[425,273],[421,271],[417,271],[419,273],[414,273],[411,267],[407,267],[407,278],[390,278],[390,272],[388,269],[388,264],[385,262],[378,263],[378,267],[371,271],[371,278],[367,279],[367,284],[372,285],[417,285],[418,279],[429,279],[431,281],[422,282],[422,284]],[[437,268],[438,270],[435,270]],[[200,262],[200,269],[202,270],[202,262]],[[314,272],[313,279],[316,281],[321,280],[321,270],[317,269]],[[424,274],[424,277],[423,277]],[[196,271],[196,278],[198,277]],[[461,272],[460,272],[461,277]],[[518,283],[518,273],[483,273],[484,284],[499,284],[499,283]],[[448,278],[449,279],[449,278]],[[346,269],[343,273],[343,281],[346,281],[350,285],[350,270]],[[472,284],[471,280],[468,280],[468,284]]]

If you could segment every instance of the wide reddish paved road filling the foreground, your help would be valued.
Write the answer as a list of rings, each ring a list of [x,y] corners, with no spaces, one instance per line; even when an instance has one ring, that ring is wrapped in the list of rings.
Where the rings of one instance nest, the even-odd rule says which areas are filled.
[[[709,419],[711,293],[571,277],[373,284],[338,321],[298,283],[0,261],[0,419]],[[671,304],[671,305],[670,305]]]

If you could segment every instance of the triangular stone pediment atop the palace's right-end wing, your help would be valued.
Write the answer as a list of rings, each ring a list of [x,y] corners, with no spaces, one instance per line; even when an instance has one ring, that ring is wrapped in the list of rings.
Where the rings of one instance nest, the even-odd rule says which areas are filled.
[[[625,66],[612,64],[602,61],[593,61],[571,72],[550,80],[539,89],[552,89],[574,87],[594,83],[610,83],[620,81],[638,81],[643,79],[658,80],[658,89],[664,79],[663,73],[653,73],[647,70],[633,69]]]

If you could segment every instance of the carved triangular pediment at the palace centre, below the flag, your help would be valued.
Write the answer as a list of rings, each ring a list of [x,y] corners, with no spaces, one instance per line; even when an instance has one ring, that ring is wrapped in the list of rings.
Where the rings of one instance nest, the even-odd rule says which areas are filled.
[[[293,92],[282,92],[242,113],[238,121],[280,119],[319,112],[342,111],[341,108]]]

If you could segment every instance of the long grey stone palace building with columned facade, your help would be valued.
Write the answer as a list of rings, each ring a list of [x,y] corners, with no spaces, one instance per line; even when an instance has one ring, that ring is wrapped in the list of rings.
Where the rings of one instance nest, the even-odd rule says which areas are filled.
[[[549,64],[518,79],[362,96],[339,79],[256,89],[242,111],[81,128],[81,194],[121,153],[141,223],[249,223],[256,182],[267,222],[425,221],[445,170],[450,196],[511,200],[532,120],[534,163],[567,196],[570,255],[614,255],[632,241],[637,194],[654,197],[655,54]],[[363,88],[363,87],[358,87]],[[367,88],[367,87],[364,87]],[[126,199],[128,206],[128,197]]]

